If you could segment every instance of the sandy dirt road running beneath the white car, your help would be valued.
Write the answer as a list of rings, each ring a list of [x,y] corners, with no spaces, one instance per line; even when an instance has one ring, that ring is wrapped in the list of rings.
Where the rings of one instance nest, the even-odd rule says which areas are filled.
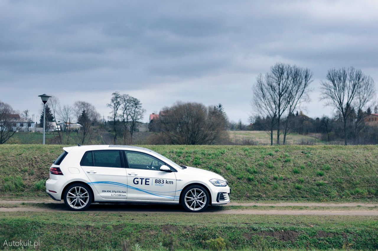
[[[236,208],[232,206],[244,206]],[[251,208],[251,206],[257,206]],[[262,208],[258,208],[261,206]],[[274,206],[274,208],[266,208]],[[288,206],[310,207],[310,209],[290,209]],[[280,208],[282,207],[282,208]],[[337,207],[337,208],[336,208]],[[0,212],[53,212],[68,211],[63,202],[51,200],[23,201],[0,200]],[[93,204],[86,211],[109,213],[173,213],[185,211],[180,205],[146,205],[146,204]],[[75,212],[73,212],[75,213]],[[373,203],[229,203],[225,206],[209,206],[203,214],[259,214],[259,215],[365,215],[378,216],[378,204]]]

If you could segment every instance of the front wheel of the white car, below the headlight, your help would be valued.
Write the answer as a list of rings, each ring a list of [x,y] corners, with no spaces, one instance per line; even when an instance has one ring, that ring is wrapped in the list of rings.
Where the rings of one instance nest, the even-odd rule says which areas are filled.
[[[188,212],[203,212],[209,202],[209,193],[203,186],[188,186],[181,194],[181,205]]]

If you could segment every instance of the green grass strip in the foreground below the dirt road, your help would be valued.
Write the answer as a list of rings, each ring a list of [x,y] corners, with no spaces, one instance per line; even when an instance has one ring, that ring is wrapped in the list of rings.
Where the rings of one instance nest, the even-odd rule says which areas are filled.
[[[0,212],[0,225],[0,239],[40,240],[39,250],[122,250],[125,239],[198,250],[218,237],[236,250],[378,248],[377,217],[363,216]]]

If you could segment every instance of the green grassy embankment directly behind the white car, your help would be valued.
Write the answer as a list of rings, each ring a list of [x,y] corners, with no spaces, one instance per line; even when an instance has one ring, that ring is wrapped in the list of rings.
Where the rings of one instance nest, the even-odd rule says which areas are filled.
[[[378,146],[144,146],[225,177],[231,200],[378,201]],[[0,146],[0,198],[46,197],[57,145]]]

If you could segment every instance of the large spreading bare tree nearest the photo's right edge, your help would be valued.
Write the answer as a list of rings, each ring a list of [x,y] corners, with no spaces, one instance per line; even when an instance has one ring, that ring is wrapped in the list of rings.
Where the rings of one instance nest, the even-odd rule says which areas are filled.
[[[347,145],[347,119],[351,115],[353,103],[359,93],[369,83],[369,76],[361,70],[353,67],[328,70],[326,81],[321,82],[321,100],[326,100],[326,105],[338,110],[343,119],[344,144]]]

